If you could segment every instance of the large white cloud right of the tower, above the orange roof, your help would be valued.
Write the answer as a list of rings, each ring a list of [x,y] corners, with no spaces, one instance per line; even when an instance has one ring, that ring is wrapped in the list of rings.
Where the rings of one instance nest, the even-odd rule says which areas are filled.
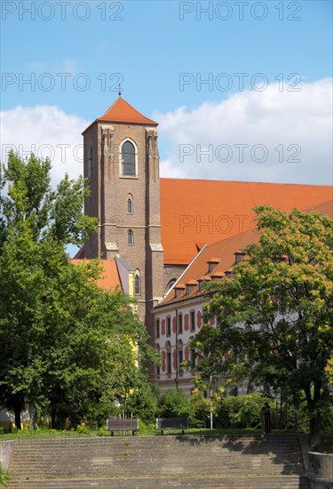
[[[238,92],[192,111],[155,113],[160,139],[170,146],[162,176],[331,183],[331,79],[299,87],[279,92],[270,84],[264,92]],[[244,144],[249,147],[234,146]]]

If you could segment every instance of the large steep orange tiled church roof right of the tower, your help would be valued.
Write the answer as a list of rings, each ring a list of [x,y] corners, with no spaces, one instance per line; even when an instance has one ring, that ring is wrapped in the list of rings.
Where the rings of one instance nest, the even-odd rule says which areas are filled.
[[[332,197],[332,187],[324,185],[161,179],[164,263],[188,264],[198,243],[215,243],[253,228],[251,208],[257,205],[283,211],[315,207],[321,212],[323,207],[327,213]]]

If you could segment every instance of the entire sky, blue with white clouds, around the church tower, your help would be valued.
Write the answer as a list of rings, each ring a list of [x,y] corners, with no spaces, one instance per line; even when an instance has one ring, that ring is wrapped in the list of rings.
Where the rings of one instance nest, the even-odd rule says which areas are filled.
[[[121,80],[123,97],[160,123],[163,176],[332,181],[330,1],[3,0],[1,9],[3,159],[11,146],[49,156],[47,146],[54,182],[82,172],[81,132]]]

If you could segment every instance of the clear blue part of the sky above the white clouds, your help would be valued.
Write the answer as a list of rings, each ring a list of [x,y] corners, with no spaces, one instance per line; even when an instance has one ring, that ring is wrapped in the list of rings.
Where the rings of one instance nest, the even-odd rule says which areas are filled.
[[[104,77],[115,74],[123,78],[123,96],[147,115],[223,100],[238,88],[234,79],[227,92],[216,86],[210,91],[208,84],[199,91],[188,84],[181,92],[180,73],[200,74],[202,80],[209,73],[214,79],[220,73],[249,73],[246,87],[256,73],[264,73],[270,82],[280,73],[297,73],[306,82],[331,76],[330,1],[244,2],[243,20],[237,2],[71,0],[71,5],[52,2],[52,9],[48,4],[2,2],[2,71],[27,79],[32,73],[51,73],[55,81],[50,92],[37,83],[35,91],[28,84],[20,87],[19,80],[6,84],[3,110],[17,104],[55,104],[93,119],[115,100],[116,92],[102,87]],[[36,12],[35,20],[29,9]],[[70,74],[64,92],[57,73]],[[89,78],[75,80],[79,73]],[[105,89],[118,77],[107,80]],[[87,91],[75,90],[76,82],[83,88],[88,79]],[[47,88],[49,81],[44,77],[41,83]]]

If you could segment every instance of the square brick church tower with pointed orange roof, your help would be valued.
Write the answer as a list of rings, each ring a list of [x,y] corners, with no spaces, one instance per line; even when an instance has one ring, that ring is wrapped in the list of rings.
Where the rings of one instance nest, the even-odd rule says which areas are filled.
[[[131,264],[139,317],[152,339],[150,311],[163,295],[157,125],[119,96],[83,132],[84,177],[91,188],[85,213],[99,220],[84,257],[121,257]]]

